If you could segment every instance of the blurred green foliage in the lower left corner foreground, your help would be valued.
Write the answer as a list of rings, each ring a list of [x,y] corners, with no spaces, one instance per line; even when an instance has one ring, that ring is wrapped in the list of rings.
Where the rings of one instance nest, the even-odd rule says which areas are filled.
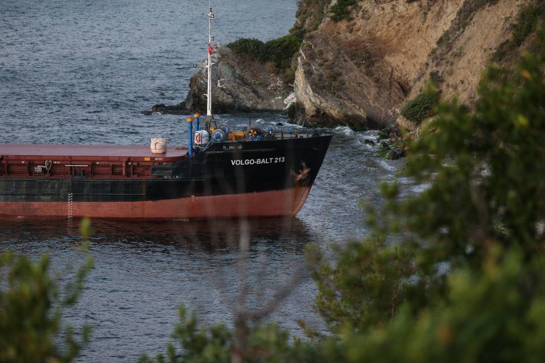
[[[0,255],[0,361],[70,362],[89,341],[90,327],[76,340],[63,327],[61,309],[76,303],[92,260],[77,270],[62,294],[50,276],[50,261],[33,261],[14,253]]]

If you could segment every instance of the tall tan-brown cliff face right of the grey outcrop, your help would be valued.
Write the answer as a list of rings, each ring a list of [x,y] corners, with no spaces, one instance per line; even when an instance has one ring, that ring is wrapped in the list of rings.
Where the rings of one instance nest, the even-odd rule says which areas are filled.
[[[474,101],[482,70],[529,1],[358,1],[352,20],[339,22],[326,15],[330,3],[297,55],[299,118],[378,128],[394,124],[399,106],[430,78],[446,99]],[[316,23],[316,9],[308,13],[300,9],[300,28]]]

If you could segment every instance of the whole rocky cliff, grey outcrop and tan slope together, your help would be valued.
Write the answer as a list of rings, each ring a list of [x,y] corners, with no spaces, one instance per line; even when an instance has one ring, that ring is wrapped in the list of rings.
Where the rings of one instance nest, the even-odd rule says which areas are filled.
[[[282,111],[293,91],[287,110],[298,122],[384,127],[427,82],[442,97],[471,104],[484,67],[515,59],[540,11],[536,0],[300,0],[290,30],[302,40],[294,79],[223,47],[215,53],[215,111]],[[523,36],[515,41],[526,15],[534,28],[518,29]],[[198,72],[186,106],[202,109],[204,90]]]

